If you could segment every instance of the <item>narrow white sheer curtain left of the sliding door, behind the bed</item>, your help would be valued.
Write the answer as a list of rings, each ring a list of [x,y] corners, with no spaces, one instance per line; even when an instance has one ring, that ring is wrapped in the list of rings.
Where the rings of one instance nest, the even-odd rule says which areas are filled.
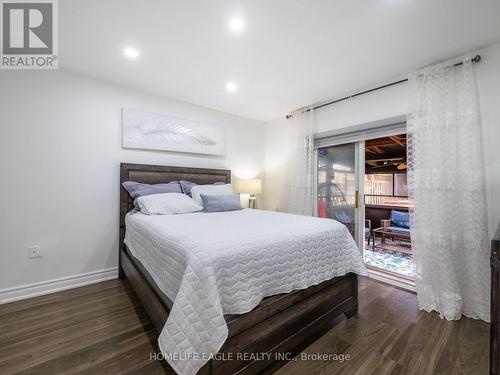
[[[314,119],[313,110],[302,109],[292,114],[290,121],[293,142],[289,164],[288,212],[313,215],[314,202]]]

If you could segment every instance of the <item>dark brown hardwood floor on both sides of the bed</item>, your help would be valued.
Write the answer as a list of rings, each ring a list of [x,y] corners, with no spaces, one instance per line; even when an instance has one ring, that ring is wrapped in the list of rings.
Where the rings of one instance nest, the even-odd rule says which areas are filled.
[[[414,294],[360,278],[358,314],[278,374],[487,374],[489,325],[418,311]],[[157,334],[120,280],[0,305],[0,374],[171,374]],[[349,355],[305,360],[305,354]]]

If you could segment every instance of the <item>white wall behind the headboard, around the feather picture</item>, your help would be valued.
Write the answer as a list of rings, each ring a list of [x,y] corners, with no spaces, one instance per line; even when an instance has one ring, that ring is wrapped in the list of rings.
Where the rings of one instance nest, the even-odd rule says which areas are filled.
[[[123,150],[122,107],[221,123],[227,156]],[[113,271],[120,162],[248,178],[263,174],[264,134],[257,121],[70,72],[0,71],[0,289]],[[43,257],[28,259],[30,245]]]

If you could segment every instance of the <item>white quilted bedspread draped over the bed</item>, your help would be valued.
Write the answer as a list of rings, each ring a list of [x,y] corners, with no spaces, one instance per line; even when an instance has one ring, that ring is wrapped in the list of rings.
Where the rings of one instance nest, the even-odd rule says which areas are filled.
[[[125,243],[174,301],[159,337],[178,374],[195,374],[227,338],[224,314],[267,296],[366,269],[335,220],[262,210],[129,214]]]

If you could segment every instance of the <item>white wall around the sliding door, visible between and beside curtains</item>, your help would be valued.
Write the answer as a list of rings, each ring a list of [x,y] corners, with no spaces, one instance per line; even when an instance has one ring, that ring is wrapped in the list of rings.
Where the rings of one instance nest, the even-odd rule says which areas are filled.
[[[500,44],[479,51],[482,61],[475,65],[487,176],[488,229],[490,237],[500,232]],[[402,77],[400,77],[402,78]],[[315,111],[316,132],[405,115],[407,84],[399,84]],[[285,211],[286,172],[290,153],[287,134],[291,122],[284,118],[266,124],[266,207]],[[285,198],[283,198],[285,197]],[[498,229],[497,229],[498,228]]]

